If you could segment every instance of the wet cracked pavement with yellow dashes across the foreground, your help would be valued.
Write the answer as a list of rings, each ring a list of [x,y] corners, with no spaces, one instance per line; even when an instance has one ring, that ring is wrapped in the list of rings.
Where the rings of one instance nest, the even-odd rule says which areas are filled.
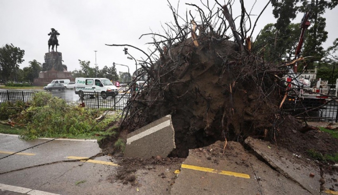
[[[224,154],[220,141],[192,149],[181,167],[145,164],[134,170],[132,185],[116,180],[117,158],[104,156],[95,140],[23,141],[0,134],[0,143],[0,195],[321,194],[317,187],[309,189],[308,182],[295,181],[297,175],[289,173],[288,178],[271,168],[237,142],[228,142]]]

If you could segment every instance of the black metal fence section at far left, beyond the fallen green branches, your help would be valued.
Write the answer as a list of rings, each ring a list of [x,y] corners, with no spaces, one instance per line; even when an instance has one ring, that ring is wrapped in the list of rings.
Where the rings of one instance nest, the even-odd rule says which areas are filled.
[[[0,91],[0,102],[27,102],[32,100],[33,94],[31,91]]]

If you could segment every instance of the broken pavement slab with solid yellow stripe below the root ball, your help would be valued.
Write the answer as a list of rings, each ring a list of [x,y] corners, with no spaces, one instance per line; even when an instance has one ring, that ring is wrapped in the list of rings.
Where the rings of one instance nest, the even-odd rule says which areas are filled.
[[[171,195],[309,194],[250,154],[240,143],[227,142],[225,154],[224,145],[225,142],[218,141],[204,148],[189,150]]]

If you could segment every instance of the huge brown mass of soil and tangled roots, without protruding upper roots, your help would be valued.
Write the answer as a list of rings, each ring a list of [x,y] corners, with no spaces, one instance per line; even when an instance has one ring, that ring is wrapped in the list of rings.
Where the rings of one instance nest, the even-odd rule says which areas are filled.
[[[278,106],[285,85],[276,65],[247,49],[239,52],[227,39],[197,41],[198,46],[190,38],[165,48],[145,68],[148,86],[132,97],[122,128],[132,132],[170,114],[177,146],[172,155],[180,157],[225,138],[273,138],[284,121]]]

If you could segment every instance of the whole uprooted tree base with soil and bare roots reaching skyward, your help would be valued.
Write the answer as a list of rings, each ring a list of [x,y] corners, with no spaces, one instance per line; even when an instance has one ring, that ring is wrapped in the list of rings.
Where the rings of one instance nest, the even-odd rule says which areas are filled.
[[[200,21],[189,13],[191,21],[179,25],[181,17],[169,3],[175,24],[166,24],[171,31],[165,35],[147,34],[153,37],[150,44],[155,49],[150,54],[144,52],[144,71],[133,82],[147,74],[148,85],[131,97],[122,128],[131,132],[172,115],[177,146],[174,156],[187,156],[188,149],[216,140],[274,139],[278,125],[285,121],[279,108],[286,89],[281,82],[286,70],[281,68],[291,64],[265,62],[263,46],[251,46],[259,17],[252,25],[240,2],[239,28],[231,15],[231,4],[206,4],[208,13],[189,4],[198,10]]]

